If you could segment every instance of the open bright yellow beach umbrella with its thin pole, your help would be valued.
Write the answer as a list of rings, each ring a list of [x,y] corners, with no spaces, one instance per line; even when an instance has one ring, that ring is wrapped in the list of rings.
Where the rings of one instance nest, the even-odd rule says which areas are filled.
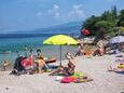
[[[60,45],[60,65],[61,65],[61,45],[78,44],[78,41],[66,35],[55,35],[43,41],[43,44]]]

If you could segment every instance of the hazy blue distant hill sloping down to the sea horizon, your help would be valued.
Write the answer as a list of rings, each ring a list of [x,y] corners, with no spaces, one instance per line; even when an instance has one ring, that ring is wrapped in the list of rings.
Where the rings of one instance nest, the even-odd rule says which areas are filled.
[[[83,22],[71,22],[58,26],[38,28],[33,30],[19,30],[13,34],[79,34]]]

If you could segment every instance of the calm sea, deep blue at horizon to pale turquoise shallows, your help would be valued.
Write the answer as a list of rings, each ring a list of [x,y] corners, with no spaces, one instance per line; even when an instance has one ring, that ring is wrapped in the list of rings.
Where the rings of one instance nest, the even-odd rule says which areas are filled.
[[[59,46],[43,45],[43,40],[56,34],[14,34],[0,35],[0,63],[4,59],[14,62],[17,57],[16,51],[25,55],[25,46],[32,49],[36,54],[37,49],[41,49],[44,56],[59,57]],[[72,46],[73,49],[73,46]],[[70,46],[63,46],[63,50],[71,50]],[[58,56],[56,56],[58,55]]]

